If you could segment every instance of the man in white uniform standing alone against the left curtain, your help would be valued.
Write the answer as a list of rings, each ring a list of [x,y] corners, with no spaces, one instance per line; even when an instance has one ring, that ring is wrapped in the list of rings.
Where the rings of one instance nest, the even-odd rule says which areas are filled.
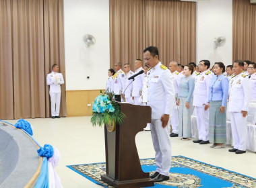
[[[46,78],[47,85],[50,85],[51,97],[51,114],[52,118],[59,117],[59,108],[61,106],[61,84],[64,83],[63,75],[59,72],[59,66],[53,64],[53,72],[49,73]]]

